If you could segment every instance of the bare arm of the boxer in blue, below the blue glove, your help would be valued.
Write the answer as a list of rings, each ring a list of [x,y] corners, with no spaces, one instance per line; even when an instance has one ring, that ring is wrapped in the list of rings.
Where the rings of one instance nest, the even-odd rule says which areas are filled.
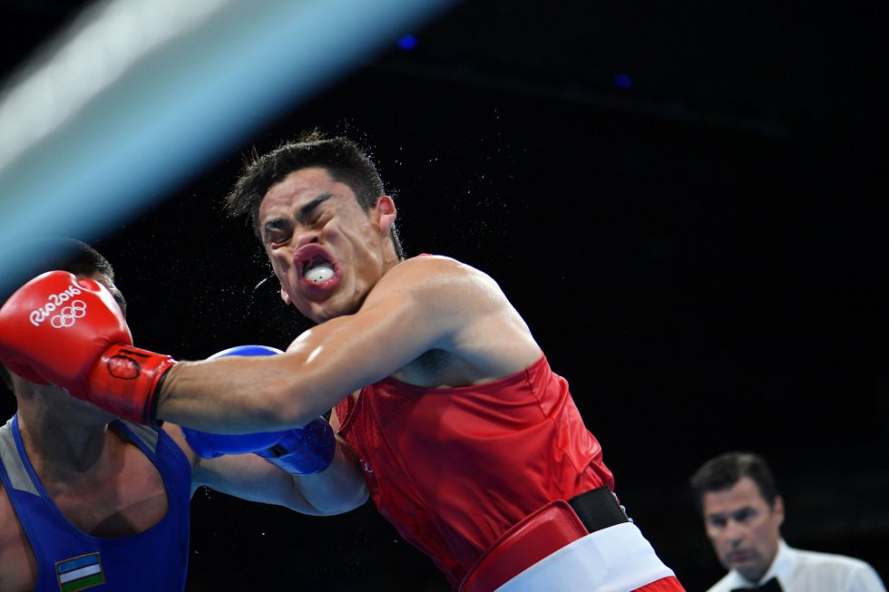
[[[201,459],[189,448],[179,426],[164,424],[192,466],[192,492],[201,486],[249,501],[285,506],[303,514],[327,516],[354,510],[367,500],[364,476],[346,442],[325,471],[290,475],[256,454],[231,454]]]

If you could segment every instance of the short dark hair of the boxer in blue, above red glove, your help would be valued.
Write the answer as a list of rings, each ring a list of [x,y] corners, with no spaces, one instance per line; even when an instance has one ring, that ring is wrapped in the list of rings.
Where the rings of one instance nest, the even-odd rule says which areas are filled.
[[[47,271],[67,271],[75,276],[101,274],[114,281],[114,268],[108,259],[76,238],[35,238],[17,245],[14,251],[7,256],[18,257],[23,265],[18,276],[8,284],[11,287],[4,290],[4,304],[19,286]],[[0,364],[0,380],[12,390],[9,371],[3,364]]]

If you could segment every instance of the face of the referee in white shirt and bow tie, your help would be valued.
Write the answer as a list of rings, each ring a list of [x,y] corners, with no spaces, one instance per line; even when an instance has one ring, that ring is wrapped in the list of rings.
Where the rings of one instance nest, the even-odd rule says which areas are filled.
[[[778,497],[769,507],[756,481],[742,477],[728,490],[705,492],[702,502],[704,529],[719,561],[757,582],[777,555],[784,501]]]

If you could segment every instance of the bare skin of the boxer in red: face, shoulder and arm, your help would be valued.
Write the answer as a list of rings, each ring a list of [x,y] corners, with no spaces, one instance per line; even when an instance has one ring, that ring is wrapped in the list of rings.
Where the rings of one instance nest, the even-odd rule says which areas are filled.
[[[285,354],[175,364],[160,419],[208,432],[301,427],[366,384],[393,375],[420,386],[463,386],[514,374],[541,355],[491,277],[448,257],[399,261],[387,196],[364,211],[326,170],[291,173],[259,211],[284,301],[318,322]],[[300,250],[304,249],[304,250]],[[304,254],[336,269],[322,286]],[[426,364],[435,352],[436,364]]]

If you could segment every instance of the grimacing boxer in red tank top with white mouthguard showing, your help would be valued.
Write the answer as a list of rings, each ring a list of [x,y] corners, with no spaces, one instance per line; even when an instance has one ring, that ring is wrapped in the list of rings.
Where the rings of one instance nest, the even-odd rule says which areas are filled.
[[[395,203],[352,141],[310,136],[257,158],[227,207],[251,219],[284,302],[317,324],[285,354],[141,351],[124,381],[111,336],[67,346],[66,364],[29,363],[139,421],[207,432],[298,428],[336,407],[377,507],[454,589],[683,589],[620,509],[523,318],[484,272],[405,258]]]

